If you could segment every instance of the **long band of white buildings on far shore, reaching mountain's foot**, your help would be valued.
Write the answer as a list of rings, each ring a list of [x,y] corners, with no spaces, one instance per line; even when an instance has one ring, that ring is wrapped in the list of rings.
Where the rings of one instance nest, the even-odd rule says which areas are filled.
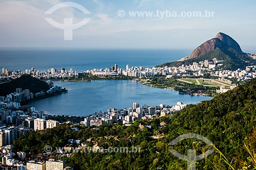
[[[220,78],[238,79],[238,81],[247,81],[256,77],[256,66],[247,66],[245,70],[237,69],[231,70],[215,70],[217,67],[222,66],[222,61],[217,61],[213,59],[212,61],[201,61],[199,63],[194,62],[192,65],[182,65],[180,67],[152,67],[143,68],[140,67],[129,67],[126,65],[126,69],[118,68],[117,64],[111,68],[105,69],[92,69],[87,70],[89,74],[105,77],[105,76],[130,76],[130,77],[150,77],[155,75],[164,75],[168,77],[180,76],[189,77],[191,72],[193,76],[204,76],[205,74],[210,74],[210,76],[216,76]]]

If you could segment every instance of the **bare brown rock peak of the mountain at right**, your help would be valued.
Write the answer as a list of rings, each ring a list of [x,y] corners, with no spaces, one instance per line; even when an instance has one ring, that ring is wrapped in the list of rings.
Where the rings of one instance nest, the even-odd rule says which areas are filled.
[[[231,47],[239,53],[243,53],[237,41],[224,33],[218,33],[215,38],[212,38],[197,47],[188,57],[188,59],[214,51],[217,47],[220,49]]]

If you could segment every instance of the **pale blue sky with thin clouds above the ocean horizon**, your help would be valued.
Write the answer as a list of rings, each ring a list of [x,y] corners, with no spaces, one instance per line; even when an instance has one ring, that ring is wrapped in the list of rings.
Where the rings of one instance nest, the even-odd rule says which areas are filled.
[[[65,2],[79,4],[90,14],[73,7],[46,14]],[[256,53],[255,8],[254,0],[0,0],[0,48],[194,49],[223,32],[235,39],[243,51]],[[193,12],[204,15],[205,11],[213,15],[189,16]],[[144,12],[144,16],[132,16],[133,12]],[[152,15],[145,16],[145,12]],[[178,17],[182,12],[185,16]],[[72,30],[72,40],[65,40],[64,30],[45,18],[59,23],[72,18],[73,24],[84,18],[90,21]]]

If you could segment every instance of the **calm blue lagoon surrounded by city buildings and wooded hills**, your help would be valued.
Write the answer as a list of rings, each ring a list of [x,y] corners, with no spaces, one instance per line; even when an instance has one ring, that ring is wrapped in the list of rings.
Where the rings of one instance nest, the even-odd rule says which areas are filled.
[[[87,116],[113,107],[129,108],[133,102],[140,106],[156,106],[161,103],[173,106],[177,102],[196,104],[211,99],[179,94],[175,90],[150,87],[132,80],[54,81],[54,84],[67,88],[69,92],[30,103],[29,106],[52,115]]]

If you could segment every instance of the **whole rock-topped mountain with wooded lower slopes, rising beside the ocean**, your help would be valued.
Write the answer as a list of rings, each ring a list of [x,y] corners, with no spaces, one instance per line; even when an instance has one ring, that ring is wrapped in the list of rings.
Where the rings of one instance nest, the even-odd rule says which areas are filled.
[[[167,62],[156,67],[163,66],[176,66],[179,67],[182,64],[189,65],[193,62],[199,63],[200,61],[217,59],[219,64],[223,66],[219,67],[229,70],[236,70],[238,68],[245,69],[248,65],[255,64],[255,60],[249,57],[246,53],[242,52],[239,44],[230,36],[224,33],[218,33],[215,38],[202,43],[197,47],[184,61]],[[218,68],[218,67],[217,67]]]

